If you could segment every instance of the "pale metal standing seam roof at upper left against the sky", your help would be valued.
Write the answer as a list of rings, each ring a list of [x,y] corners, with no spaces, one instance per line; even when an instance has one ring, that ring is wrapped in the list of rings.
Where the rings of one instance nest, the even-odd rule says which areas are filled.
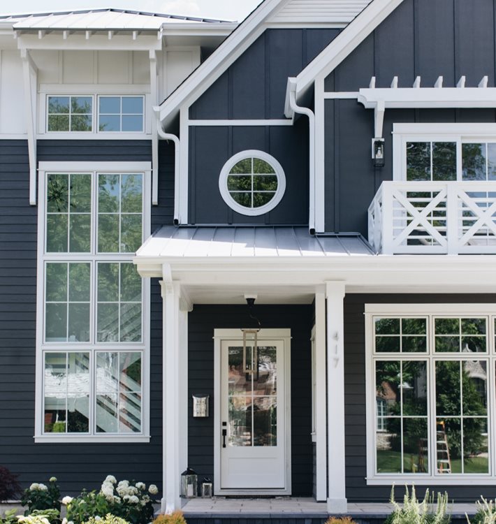
[[[58,13],[33,13],[0,16],[0,22],[10,22],[16,30],[159,30],[163,24],[191,25],[226,23],[210,18],[164,15],[124,9],[86,9]],[[228,22],[231,23],[231,22]]]

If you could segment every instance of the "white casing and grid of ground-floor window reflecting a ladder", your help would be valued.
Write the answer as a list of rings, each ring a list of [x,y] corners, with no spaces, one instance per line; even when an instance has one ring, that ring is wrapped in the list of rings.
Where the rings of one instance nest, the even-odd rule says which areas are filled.
[[[403,342],[400,342],[400,351],[391,351],[391,348],[384,351],[374,351],[374,320],[375,319],[426,319],[426,351],[421,352],[409,352],[408,350],[402,349]],[[439,340],[444,335],[440,335],[439,331],[436,333],[438,324],[435,324],[436,319],[448,319],[453,321],[460,321],[460,351],[440,349],[442,346],[436,346],[436,339]],[[463,345],[463,319],[481,319],[486,322],[486,334],[485,337],[481,336],[481,341],[486,340],[486,351],[478,349],[476,352],[469,351],[468,347]],[[465,485],[467,481],[474,485],[490,485],[495,482],[496,478],[496,453],[494,452],[495,442],[495,429],[496,429],[496,416],[495,416],[495,399],[494,392],[496,388],[495,384],[495,366],[496,366],[496,347],[495,347],[495,321],[496,321],[496,305],[494,304],[367,304],[365,305],[365,377],[366,377],[366,425],[367,425],[367,484],[368,485],[391,485],[392,482],[414,482],[416,484],[430,484],[430,485]],[[401,324],[402,326],[402,324]],[[436,327],[435,327],[436,326]],[[402,329],[402,328],[401,328]],[[401,333],[401,331],[400,331]],[[383,337],[384,335],[377,335]],[[386,337],[388,335],[385,335]],[[399,335],[401,337],[408,337],[410,335]],[[451,335],[448,335],[451,336]],[[458,336],[458,335],[456,335]],[[455,338],[456,338],[455,336]],[[468,336],[468,335],[467,335]],[[471,335],[472,336],[472,335]],[[393,335],[397,338],[397,335]],[[475,335],[478,337],[478,335]],[[419,351],[417,349],[417,351]],[[426,403],[426,414],[425,416],[420,414],[412,414],[407,412],[404,414],[404,390],[400,392],[400,400],[395,400],[399,403],[400,409],[399,414],[388,414],[386,405],[380,407],[378,393],[376,389],[376,367],[375,363],[380,362],[386,364],[400,365],[400,370],[403,370],[404,364],[407,363],[425,363],[425,403]],[[402,364],[400,364],[402,363]],[[444,414],[438,413],[436,393],[436,370],[439,364],[439,369],[442,369],[442,365],[456,365],[460,363],[460,413]],[[463,367],[462,366],[463,364]],[[464,382],[464,370],[467,370],[466,366],[469,366],[470,372],[474,372],[476,364],[479,363],[485,369],[485,376],[483,381],[486,382],[486,393],[484,399],[486,400],[487,410],[486,414],[476,414],[473,411],[465,414],[465,405],[463,403],[463,393],[465,391]],[[482,364],[481,364],[482,363]],[[401,371],[402,372],[402,371]],[[476,373],[475,373],[476,374]],[[474,377],[475,377],[474,374]],[[399,375],[398,375],[399,377]],[[472,376],[471,376],[472,379]],[[377,379],[379,380],[379,379]],[[403,377],[400,378],[399,388],[411,387],[403,382]],[[384,382],[382,384],[385,384]],[[386,384],[387,386],[387,384]],[[399,391],[399,390],[398,390]],[[439,390],[441,391],[441,390]],[[399,393],[398,393],[399,394]],[[381,395],[379,395],[381,396]],[[387,401],[387,387],[384,391],[384,399]],[[379,409],[379,411],[378,411]],[[468,408],[467,408],[468,409]],[[427,438],[425,439],[425,449],[421,451],[419,448],[418,457],[413,451],[407,452],[407,444],[403,444],[403,438],[405,432],[400,430],[400,435],[395,435],[395,432],[388,435],[386,427],[386,421],[389,419],[395,419],[398,424],[401,424],[403,428],[404,417],[407,419],[414,416],[414,419],[424,418],[427,421]],[[451,465],[454,464],[453,470],[460,470],[460,472],[446,472],[439,469],[440,463],[442,463],[442,447],[443,444],[439,444],[438,424],[444,419],[455,420],[457,419],[461,428],[460,444],[464,446],[463,428],[465,428],[465,422],[467,419],[481,419],[482,425],[484,420],[487,420],[487,446],[488,446],[488,465],[487,473],[483,472],[465,472],[467,466],[465,466],[464,452],[461,452],[461,458],[455,458],[450,460],[449,468],[451,471]],[[379,420],[380,419],[380,420]],[[444,427],[444,426],[443,426]],[[447,436],[449,432],[446,432],[446,443],[448,442]],[[377,449],[379,436],[381,439],[387,439],[388,436],[391,438],[401,439],[400,447],[400,460],[401,470],[407,470],[409,461],[411,462],[411,469],[414,469],[414,461],[420,461],[421,453],[425,454],[426,465],[425,469],[427,472],[404,472],[404,473],[392,473],[385,472],[381,473],[377,471]],[[444,438],[444,437],[443,437]],[[452,435],[452,438],[453,435]],[[453,441],[454,442],[454,441]],[[458,441],[456,441],[458,442]],[[420,440],[419,440],[420,443]],[[380,443],[379,443],[380,444]],[[421,444],[418,444],[419,446]],[[450,444],[451,445],[451,444]],[[382,444],[381,444],[382,446]],[[448,447],[448,444],[446,444]],[[427,451],[428,449],[428,451]],[[387,451],[387,449],[386,449]],[[408,453],[408,456],[407,456]],[[391,449],[391,455],[393,449]],[[411,455],[411,457],[409,457]],[[477,458],[474,456],[474,458]],[[384,459],[383,459],[384,460]],[[388,460],[386,458],[386,460]],[[456,464],[460,462],[460,464]],[[467,462],[468,463],[468,462]],[[384,463],[383,463],[384,464]],[[386,470],[394,470],[394,467],[386,467]],[[472,470],[480,469],[476,466],[472,466]]]

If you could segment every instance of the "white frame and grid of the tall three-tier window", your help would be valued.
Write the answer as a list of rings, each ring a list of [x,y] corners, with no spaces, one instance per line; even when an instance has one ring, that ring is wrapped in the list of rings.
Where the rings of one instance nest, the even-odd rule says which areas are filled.
[[[133,298],[123,298],[122,294],[122,282],[130,282],[129,279],[126,279],[126,275],[132,274],[133,270],[136,268],[132,265],[132,259],[134,252],[102,252],[99,250],[99,245],[97,242],[97,224],[98,219],[102,215],[99,214],[98,204],[99,204],[99,175],[112,175],[114,177],[112,180],[118,180],[119,189],[121,191],[122,184],[124,180],[131,180],[125,178],[126,175],[136,175],[137,179],[140,180],[140,189],[141,193],[141,203],[142,203],[142,213],[141,213],[141,235],[140,241],[143,242],[145,238],[149,235],[150,231],[150,202],[151,202],[151,166],[149,162],[40,162],[39,163],[39,181],[38,181],[38,271],[37,271],[37,307],[36,307],[36,422],[35,422],[35,442],[149,442],[149,279],[141,280],[141,311],[140,313],[131,313],[131,319],[138,319],[140,316],[141,323],[141,333],[140,340],[134,335],[138,333],[136,329],[138,327],[133,326],[131,333],[131,338],[126,337],[126,333],[121,332],[119,328],[113,330],[110,324],[106,324],[105,327],[111,328],[115,332],[114,335],[109,337],[100,337],[97,334],[97,307],[99,307],[99,298],[97,293],[99,291],[99,283],[97,278],[99,271],[103,269],[112,270],[114,277],[117,278],[115,281],[117,283],[117,298],[107,298],[105,300],[110,300],[111,302],[106,302],[110,307],[113,307],[117,312],[117,317],[113,319],[113,316],[105,317],[105,321],[108,321],[108,318],[112,319],[111,322],[117,322],[119,326],[121,325],[121,315],[124,314],[124,310],[134,307],[136,304],[139,311],[139,302],[136,303],[136,297]],[[91,246],[86,249],[83,249],[83,252],[70,252],[69,242],[71,233],[68,233],[67,247],[65,251],[60,250],[56,252],[52,249],[51,252],[48,252],[46,249],[46,238],[47,238],[47,180],[50,175],[74,175],[78,174],[88,174],[91,175],[91,219],[90,219],[90,233],[91,236]],[[119,175],[118,178],[115,175]],[[131,177],[132,178],[132,177]],[[69,182],[71,184],[72,182]],[[105,179],[101,179],[105,180]],[[72,187],[69,189],[72,191]],[[122,224],[124,221],[124,211],[121,211],[121,197],[119,196],[119,211],[114,213],[117,216],[117,221],[119,224]],[[71,205],[67,206],[71,208]],[[70,213],[70,211],[68,211]],[[132,215],[132,213],[131,213]],[[129,218],[126,216],[126,218]],[[69,218],[67,219],[69,220]],[[119,231],[124,226],[119,227]],[[69,229],[69,227],[68,227]],[[65,231],[65,230],[64,230]],[[124,230],[123,230],[124,231]],[[119,237],[119,242],[122,240]],[[119,246],[122,245],[119,244]],[[100,251],[100,252],[99,252]],[[45,337],[45,278],[47,266],[50,265],[51,268],[57,270],[57,265],[61,264],[62,268],[68,266],[68,274],[71,268],[71,265],[78,265],[76,267],[81,268],[82,265],[89,267],[89,333],[87,337],[83,337],[83,340],[78,342],[75,340],[75,337],[69,337],[69,328],[67,328],[66,335],[63,335],[61,339],[52,337],[52,340],[47,340]],[[125,267],[124,267],[125,266]],[[117,273],[115,270],[117,269]],[[124,272],[124,269],[126,270]],[[131,271],[131,273],[129,273]],[[64,275],[62,271],[60,275]],[[67,277],[67,286],[70,285],[69,277]],[[136,286],[138,285],[138,280],[133,277],[133,282]],[[80,282],[75,281],[75,282]],[[135,287],[136,287],[135,286]],[[84,286],[83,286],[84,287]],[[137,288],[139,289],[139,288]],[[64,291],[65,293],[65,291]],[[74,299],[70,296],[70,291],[67,291],[67,311],[70,306],[71,300],[80,300],[80,298]],[[128,293],[129,294],[129,293]],[[62,300],[62,305],[64,305],[65,299]],[[100,303],[103,299],[100,300]],[[131,300],[131,302],[129,302]],[[133,300],[135,302],[133,302]],[[83,305],[88,301],[86,298],[83,300]],[[84,309],[84,308],[83,308]],[[138,316],[136,316],[138,315]],[[135,321],[136,322],[136,321]],[[123,325],[123,324],[122,324]],[[105,331],[106,333],[106,331]],[[117,334],[116,334],[117,333]],[[136,341],[134,341],[134,338]],[[64,340],[65,337],[65,340]],[[113,342],[112,342],[113,340]],[[48,367],[48,374],[45,374],[45,357],[50,354],[51,364]],[[80,357],[78,357],[79,354]],[[65,357],[64,357],[65,355]],[[69,361],[73,362],[74,358],[80,360],[81,364],[78,367],[78,364],[75,364],[73,369],[82,373],[80,375],[82,382],[87,381],[87,385],[83,384],[83,388],[89,389],[89,405],[87,408],[84,408],[83,411],[87,409],[88,416],[88,432],[60,432],[57,433],[57,430],[50,428],[48,432],[45,432],[45,413],[44,413],[44,399],[45,399],[45,380],[50,379],[57,386],[57,379],[55,379],[55,374],[57,372],[57,367],[63,367],[64,358],[66,359],[66,366],[71,365]],[[116,391],[110,391],[111,388],[110,382],[104,381],[105,373],[98,370],[101,370],[100,367],[103,363],[101,359],[110,358],[110,361],[114,362],[114,365],[119,365],[122,369],[129,369],[126,365],[138,365],[140,362],[140,384],[133,381],[133,379],[128,379],[128,375],[123,375],[123,381],[116,379],[112,384],[117,383],[118,389]],[[98,362],[97,362],[98,359]],[[99,365],[97,365],[100,363]],[[50,370],[54,370],[53,372]],[[74,371],[72,371],[74,372]],[[78,395],[72,395],[78,402],[77,399],[81,398],[80,387],[75,384],[78,382],[74,381],[74,376],[72,384],[70,386],[68,367],[66,370],[66,379],[64,384],[67,384],[67,394],[66,400],[61,400],[61,397],[58,396],[54,405],[59,405],[60,402],[66,402],[66,413],[68,416],[68,405],[71,401],[71,391],[70,388],[76,388]],[[103,374],[102,374],[103,373]],[[135,366],[136,373],[136,366]],[[112,375],[115,377],[116,375]],[[130,375],[129,375],[130,376]],[[119,382],[122,384],[119,385]],[[105,385],[106,384],[106,385]],[[121,389],[124,388],[124,389]],[[86,390],[85,390],[86,391]],[[74,393],[74,391],[72,392]],[[119,428],[119,408],[117,407],[117,429],[116,430],[106,430],[103,432],[100,428],[96,428],[96,416],[97,410],[99,413],[105,412],[105,407],[100,404],[100,408],[96,403],[96,395],[107,395],[108,398],[116,399],[116,406],[119,406],[119,403],[122,402],[123,398],[128,399],[127,402],[129,410],[126,412],[128,419],[124,420],[124,425],[127,423],[127,427],[124,428],[124,425]],[[112,397],[114,395],[114,397]],[[135,395],[133,397],[133,395]],[[102,400],[102,399],[101,399]],[[105,400],[105,399],[103,399]],[[79,400],[80,401],[80,400]],[[136,403],[138,407],[136,407]],[[140,407],[139,407],[140,405]],[[102,407],[103,406],[103,407]],[[58,410],[59,407],[50,408],[57,410],[57,420],[58,420]],[[72,408],[72,411],[75,410],[75,405]],[[80,411],[79,411],[80,412]],[[85,412],[86,415],[86,412]],[[109,423],[111,421],[109,420]],[[66,431],[68,428],[66,427]],[[84,430],[80,430],[84,431]]]

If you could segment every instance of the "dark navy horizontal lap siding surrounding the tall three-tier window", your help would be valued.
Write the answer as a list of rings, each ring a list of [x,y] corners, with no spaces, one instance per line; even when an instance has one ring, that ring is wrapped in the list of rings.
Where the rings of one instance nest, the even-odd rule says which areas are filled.
[[[152,230],[172,224],[173,148],[160,143],[159,198]],[[151,161],[149,141],[39,140],[38,160]],[[62,493],[99,488],[108,474],[156,483],[162,479],[162,300],[152,281],[149,443],[35,444],[36,235],[38,208],[29,205],[24,140],[0,141],[0,464],[22,487],[52,475]]]

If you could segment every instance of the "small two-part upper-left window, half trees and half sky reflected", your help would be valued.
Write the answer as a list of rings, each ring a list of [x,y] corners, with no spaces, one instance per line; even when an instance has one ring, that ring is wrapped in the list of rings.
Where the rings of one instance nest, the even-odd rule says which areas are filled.
[[[48,133],[145,133],[145,95],[47,94]]]

